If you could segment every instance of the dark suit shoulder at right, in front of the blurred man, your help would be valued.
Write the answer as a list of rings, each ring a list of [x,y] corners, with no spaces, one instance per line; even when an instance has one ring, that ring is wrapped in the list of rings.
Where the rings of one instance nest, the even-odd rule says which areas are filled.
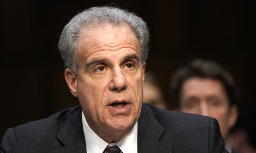
[[[141,115],[142,119],[151,118],[165,129],[159,140],[172,144],[176,152],[222,152],[224,149],[219,124],[214,118],[167,111],[150,104],[143,104]]]

